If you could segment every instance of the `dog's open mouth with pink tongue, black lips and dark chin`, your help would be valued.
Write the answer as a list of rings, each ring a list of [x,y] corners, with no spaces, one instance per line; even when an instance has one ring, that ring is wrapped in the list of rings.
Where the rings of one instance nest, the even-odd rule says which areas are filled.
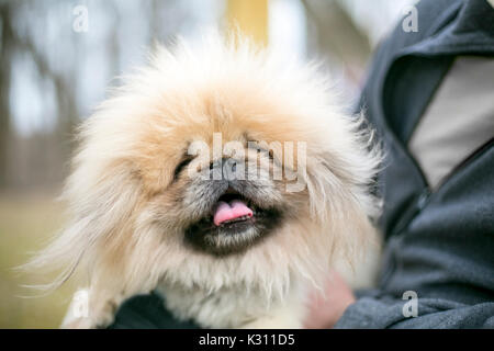
[[[281,211],[262,208],[228,188],[209,215],[187,228],[186,241],[215,256],[236,253],[258,242],[280,219]]]

